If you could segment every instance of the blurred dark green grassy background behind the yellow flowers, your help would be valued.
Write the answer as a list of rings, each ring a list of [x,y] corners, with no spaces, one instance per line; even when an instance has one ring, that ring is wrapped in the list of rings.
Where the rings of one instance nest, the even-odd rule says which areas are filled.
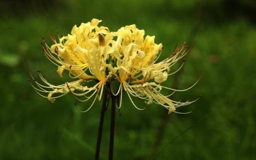
[[[70,94],[50,103],[28,83],[25,65],[53,84],[64,83],[42,53],[41,38],[49,41],[47,30],[66,35],[92,18],[111,31],[136,24],[155,35],[164,46],[161,58],[176,44],[196,41],[184,70],[166,85],[186,88],[204,74],[173,97],[203,96],[181,108],[193,110],[189,115],[167,115],[157,105],[139,111],[125,95],[114,159],[256,158],[255,1],[2,1],[0,12],[0,159],[94,159],[101,103],[87,113],[76,109]],[[108,155],[109,113],[100,159]]]

